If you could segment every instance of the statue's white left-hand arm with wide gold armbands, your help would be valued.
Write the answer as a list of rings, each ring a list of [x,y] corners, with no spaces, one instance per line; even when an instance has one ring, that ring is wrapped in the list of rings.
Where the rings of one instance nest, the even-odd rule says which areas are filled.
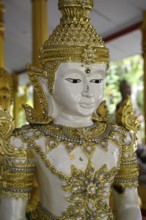
[[[33,187],[34,157],[27,149],[21,148],[22,143],[19,139],[15,139],[20,148],[14,147],[14,154],[4,155],[2,160],[0,198],[2,220],[26,220],[26,207]]]

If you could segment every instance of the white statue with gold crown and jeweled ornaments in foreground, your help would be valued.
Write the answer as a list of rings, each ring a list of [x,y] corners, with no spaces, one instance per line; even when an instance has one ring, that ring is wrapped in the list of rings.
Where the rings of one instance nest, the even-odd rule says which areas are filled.
[[[32,220],[141,220],[139,125],[129,98],[117,113],[119,125],[108,123],[102,98],[109,51],[88,18],[93,1],[58,5],[61,22],[40,50],[41,68],[28,66],[42,115],[24,105],[29,125],[8,139],[0,219],[25,220],[36,176],[40,199]]]

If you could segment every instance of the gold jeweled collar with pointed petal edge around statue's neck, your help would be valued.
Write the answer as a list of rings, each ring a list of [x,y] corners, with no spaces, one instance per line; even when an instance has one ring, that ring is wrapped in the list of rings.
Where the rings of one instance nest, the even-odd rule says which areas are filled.
[[[53,123],[48,125],[32,125],[47,137],[47,151],[57,147],[60,142],[71,152],[81,146],[87,157],[91,158],[97,144],[105,151],[108,150],[107,138],[111,126],[103,122],[94,122],[92,126],[73,128]]]

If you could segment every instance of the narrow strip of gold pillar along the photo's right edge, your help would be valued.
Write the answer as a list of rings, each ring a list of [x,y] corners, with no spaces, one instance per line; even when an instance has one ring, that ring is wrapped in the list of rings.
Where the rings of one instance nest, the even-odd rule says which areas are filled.
[[[142,49],[144,59],[144,122],[145,122],[145,144],[146,144],[146,11],[144,11],[142,24]]]

